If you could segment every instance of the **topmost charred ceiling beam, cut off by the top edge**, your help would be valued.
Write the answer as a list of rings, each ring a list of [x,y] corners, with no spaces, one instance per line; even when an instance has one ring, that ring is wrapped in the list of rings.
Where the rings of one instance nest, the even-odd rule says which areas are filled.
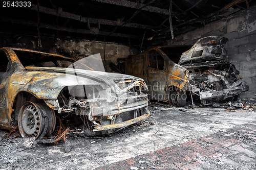
[[[141,7],[143,7],[145,5],[145,4],[141,4],[141,3],[134,3],[131,1],[127,1],[127,0],[118,0],[118,1],[116,1],[116,0],[94,0],[94,1],[100,2],[100,3],[105,3],[105,4],[122,6],[122,7],[129,7],[129,8],[134,8],[134,9],[140,9]],[[147,7],[143,8],[142,10],[159,13],[159,14],[164,14],[164,15],[169,15],[168,9],[162,9],[162,8],[158,8],[158,7],[147,6]],[[172,12],[172,13],[175,13],[175,12]]]

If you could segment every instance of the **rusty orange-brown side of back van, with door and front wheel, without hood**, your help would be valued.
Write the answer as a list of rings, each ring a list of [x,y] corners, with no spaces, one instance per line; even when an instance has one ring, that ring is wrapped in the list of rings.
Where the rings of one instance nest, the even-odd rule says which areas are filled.
[[[150,99],[173,102],[176,106],[184,106],[186,91],[195,88],[189,83],[188,70],[170,60],[160,47],[127,57],[125,74],[143,78]]]

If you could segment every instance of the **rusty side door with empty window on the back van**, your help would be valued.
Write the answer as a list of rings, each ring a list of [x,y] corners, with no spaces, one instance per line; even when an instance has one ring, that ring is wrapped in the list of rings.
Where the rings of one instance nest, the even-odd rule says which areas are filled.
[[[147,85],[151,99],[165,101],[166,69],[165,60],[152,48],[147,53]]]

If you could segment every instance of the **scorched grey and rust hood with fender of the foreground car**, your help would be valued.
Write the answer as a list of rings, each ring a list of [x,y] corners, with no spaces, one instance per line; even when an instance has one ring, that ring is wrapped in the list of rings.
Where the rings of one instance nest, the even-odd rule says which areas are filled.
[[[76,85],[100,85],[102,88],[111,88],[117,94],[124,92],[125,89],[119,88],[115,80],[132,79],[133,86],[141,83],[146,88],[143,79],[129,75],[55,67],[28,66],[26,69],[31,71],[32,79],[21,80],[19,83],[24,83],[25,91],[29,91],[41,99],[56,99],[63,87]],[[41,71],[45,71],[44,75],[41,75]],[[40,76],[38,76],[39,74]],[[46,90],[42,91],[41,89]]]

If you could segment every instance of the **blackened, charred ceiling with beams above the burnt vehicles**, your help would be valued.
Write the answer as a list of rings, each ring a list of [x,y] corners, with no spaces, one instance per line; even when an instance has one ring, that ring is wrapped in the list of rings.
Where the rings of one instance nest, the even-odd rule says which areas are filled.
[[[175,37],[255,5],[252,0],[38,0],[30,7],[3,3],[2,33],[132,45],[171,39],[172,33]]]

